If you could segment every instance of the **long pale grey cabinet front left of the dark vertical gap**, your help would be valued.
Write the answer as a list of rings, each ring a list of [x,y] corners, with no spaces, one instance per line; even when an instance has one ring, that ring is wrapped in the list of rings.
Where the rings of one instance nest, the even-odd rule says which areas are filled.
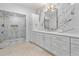
[[[70,38],[54,34],[33,32],[32,42],[57,56],[70,55]]]

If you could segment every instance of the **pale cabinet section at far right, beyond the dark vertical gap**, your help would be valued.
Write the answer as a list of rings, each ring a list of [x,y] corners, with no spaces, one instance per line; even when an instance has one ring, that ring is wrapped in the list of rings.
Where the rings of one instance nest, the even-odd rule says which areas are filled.
[[[71,38],[71,56],[79,56],[79,39]]]

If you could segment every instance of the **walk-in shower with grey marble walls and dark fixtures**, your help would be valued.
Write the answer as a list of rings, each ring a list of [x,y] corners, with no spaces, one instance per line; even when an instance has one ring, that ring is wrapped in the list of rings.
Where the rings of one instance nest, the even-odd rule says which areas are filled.
[[[26,16],[0,10],[0,48],[26,39]]]

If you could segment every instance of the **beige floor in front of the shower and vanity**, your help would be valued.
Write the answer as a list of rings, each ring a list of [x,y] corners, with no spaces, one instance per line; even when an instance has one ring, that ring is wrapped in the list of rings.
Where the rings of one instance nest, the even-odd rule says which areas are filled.
[[[16,46],[0,49],[0,56],[51,56],[31,43],[18,43]]]

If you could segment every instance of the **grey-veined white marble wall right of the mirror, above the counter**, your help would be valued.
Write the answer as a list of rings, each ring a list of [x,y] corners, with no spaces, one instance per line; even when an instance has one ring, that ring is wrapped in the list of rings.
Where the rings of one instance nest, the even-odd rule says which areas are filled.
[[[58,8],[59,26],[66,22],[66,20],[72,19],[72,21],[66,23],[60,29],[62,29],[63,32],[79,33],[79,3],[75,3],[74,5],[70,3],[57,3],[56,7]],[[37,10],[37,14],[40,13],[41,9]],[[74,12],[74,15],[71,15],[71,11]]]

